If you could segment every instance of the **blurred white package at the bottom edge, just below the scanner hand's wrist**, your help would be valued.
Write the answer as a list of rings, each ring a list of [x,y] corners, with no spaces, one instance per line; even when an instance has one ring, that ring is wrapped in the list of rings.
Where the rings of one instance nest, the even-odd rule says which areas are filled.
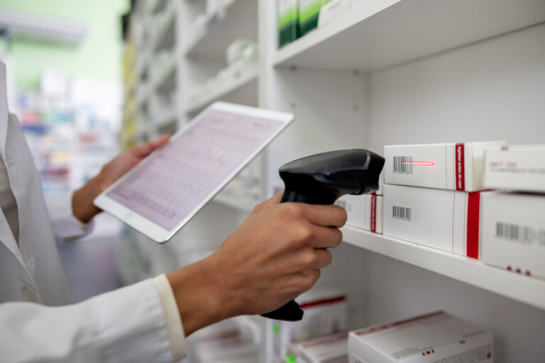
[[[259,345],[238,328],[236,318],[209,325],[189,337],[189,357],[195,362],[257,363]]]

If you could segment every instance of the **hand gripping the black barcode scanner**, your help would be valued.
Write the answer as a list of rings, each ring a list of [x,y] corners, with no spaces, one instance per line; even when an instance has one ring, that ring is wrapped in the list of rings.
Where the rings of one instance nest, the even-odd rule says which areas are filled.
[[[257,206],[213,255],[168,275],[186,335],[216,321],[279,308],[310,289],[342,240],[339,206]]]

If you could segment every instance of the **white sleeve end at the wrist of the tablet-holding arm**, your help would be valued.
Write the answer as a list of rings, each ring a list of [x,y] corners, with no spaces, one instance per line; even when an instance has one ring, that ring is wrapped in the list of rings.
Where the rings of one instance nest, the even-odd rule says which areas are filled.
[[[72,191],[47,201],[53,234],[57,246],[82,238],[92,232],[94,220],[83,223],[72,213]]]

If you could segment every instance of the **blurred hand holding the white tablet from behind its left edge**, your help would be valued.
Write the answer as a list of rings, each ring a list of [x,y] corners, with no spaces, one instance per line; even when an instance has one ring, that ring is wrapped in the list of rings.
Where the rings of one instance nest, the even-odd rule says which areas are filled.
[[[72,213],[74,216],[84,223],[89,222],[91,218],[101,212],[100,208],[94,206],[93,200],[146,156],[150,155],[151,152],[166,145],[169,140],[169,135],[163,135],[143,145],[131,147],[105,164],[96,177],[89,180],[87,184],[72,195]]]

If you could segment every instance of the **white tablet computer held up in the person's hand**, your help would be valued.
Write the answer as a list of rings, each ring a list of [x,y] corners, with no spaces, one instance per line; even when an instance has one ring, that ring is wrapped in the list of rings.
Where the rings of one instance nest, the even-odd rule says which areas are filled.
[[[166,242],[292,120],[291,113],[216,102],[94,204]]]

